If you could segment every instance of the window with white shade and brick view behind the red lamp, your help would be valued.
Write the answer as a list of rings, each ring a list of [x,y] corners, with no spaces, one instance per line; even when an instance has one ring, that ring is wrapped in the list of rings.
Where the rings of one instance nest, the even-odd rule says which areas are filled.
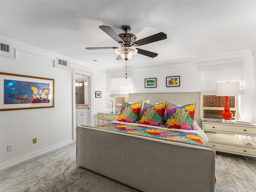
[[[243,62],[215,63],[200,66],[200,90],[202,94],[202,118],[222,119],[226,104],[224,97],[216,96],[216,83],[239,82],[240,94],[244,92]],[[230,96],[229,106],[233,118],[238,120],[238,98]]]

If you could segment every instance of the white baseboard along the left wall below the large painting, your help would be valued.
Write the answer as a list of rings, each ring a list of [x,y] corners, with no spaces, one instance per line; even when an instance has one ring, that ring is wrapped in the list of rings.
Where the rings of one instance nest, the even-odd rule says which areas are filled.
[[[44,154],[44,153],[46,153],[46,152],[55,150],[55,149],[60,148],[60,147],[63,147],[63,146],[66,146],[66,145],[71,144],[71,143],[73,143],[73,142],[74,142],[74,141],[73,141],[72,139],[70,139],[70,140],[61,142],[61,143],[59,143],[59,144],[50,146],[50,147],[48,147],[48,148],[42,149],[42,150],[40,150],[40,151],[37,151],[37,152],[31,153],[31,154],[25,155],[25,156],[23,156],[23,157],[20,157],[20,158],[17,158],[17,159],[8,161],[8,162],[3,163],[3,164],[0,164],[0,170],[2,170],[2,169],[4,169],[4,168],[8,168],[8,167],[10,167],[10,166],[13,166],[13,165],[15,165],[15,164],[18,164],[18,163],[20,163],[20,162],[24,162],[24,161],[29,160],[29,159],[31,159],[31,158],[40,156],[40,155],[42,155],[42,154]]]

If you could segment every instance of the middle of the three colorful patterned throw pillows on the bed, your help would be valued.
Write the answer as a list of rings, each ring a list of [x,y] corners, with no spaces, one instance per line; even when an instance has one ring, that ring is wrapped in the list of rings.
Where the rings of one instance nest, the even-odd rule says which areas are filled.
[[[161,126],[163,124],[165,106],[165,103],[151,105],[145,102],[140,123]]]

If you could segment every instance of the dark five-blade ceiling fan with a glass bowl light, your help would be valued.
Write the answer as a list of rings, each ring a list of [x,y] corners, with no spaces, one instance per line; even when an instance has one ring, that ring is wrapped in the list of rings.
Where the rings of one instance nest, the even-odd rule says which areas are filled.
[[[108,34],[111,38],[113,38],[116,42],[118,42],[121,45],[121,47],[120,48],[118,47],[86,47],[86,49],[88,50],[115,49],[115,52],[118,54],[118,57],[116,58],[116,60],[120,60],[120,59],[128,60],[132,57],[133,54],[136,54],[136,53],[154,58],[158,55],[157,53],[139,49],[139,48],[134,48],[134,47],[164,40],[167,38],[167,35],[165,33],[160,32],[136,41],[137,37],[132,33],[128,33],[131,30],[130,26],[127,26],[127,25],[122,26],[122,30],[124,31],[124,33],[120,33],[120,34],[116,34],[116,32],[114,32],[114,30],[108,26],[102,25],[102,26],[99,26],[99,28],[103,30],[106,34]]]

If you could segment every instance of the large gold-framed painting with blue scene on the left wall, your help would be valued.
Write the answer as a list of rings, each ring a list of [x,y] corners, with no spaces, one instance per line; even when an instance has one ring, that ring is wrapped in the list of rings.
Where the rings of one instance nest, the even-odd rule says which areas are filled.
[[[0,111],[54,107],[54,79],[0,72]]]

